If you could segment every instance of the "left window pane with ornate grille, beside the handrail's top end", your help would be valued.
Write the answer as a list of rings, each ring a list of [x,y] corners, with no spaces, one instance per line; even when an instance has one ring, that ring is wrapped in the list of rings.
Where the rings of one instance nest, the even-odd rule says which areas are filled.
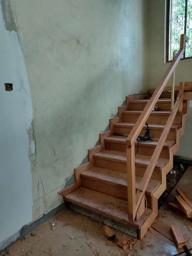
[[[180,49],[180,35],[184,34],[185,29],[185,0],[170,2],[169,61],[173,59],[173,51]]]

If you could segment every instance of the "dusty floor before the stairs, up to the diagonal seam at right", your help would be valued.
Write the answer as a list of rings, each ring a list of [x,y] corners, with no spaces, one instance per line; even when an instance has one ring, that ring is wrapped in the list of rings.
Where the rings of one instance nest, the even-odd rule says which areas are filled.
[[[52,223],[55,226],[51,227]],[[23,241],[13,244],[8,253],[11,256],[169,256],[177,253],[174,243],[154,229],[147,232],[132,251],[122,251],[117,241],[123,233],[115,232],[116,241],[108,246],[102,223],[67,209]]]

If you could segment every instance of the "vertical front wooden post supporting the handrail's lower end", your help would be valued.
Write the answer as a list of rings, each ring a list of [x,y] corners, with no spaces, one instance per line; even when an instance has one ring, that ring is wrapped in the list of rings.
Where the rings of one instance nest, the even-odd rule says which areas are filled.
[[[135,191],[135,145],[127,144],[127,198],[128,213],[131,220],[135,219],[136,191]]]

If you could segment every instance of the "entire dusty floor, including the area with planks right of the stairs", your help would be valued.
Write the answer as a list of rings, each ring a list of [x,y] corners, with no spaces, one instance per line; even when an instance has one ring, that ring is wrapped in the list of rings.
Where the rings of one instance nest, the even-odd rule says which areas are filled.
[[[177,187],[192,198],[191,184],[192,166],[181,177],[167,202],[174,201]],[[172,256],[177,254],[178,250],[170,233],[170,225],[180,227],[186,245],[192,248],[192,221],[168,210],[167,202],[159,209],[151,231],[146,233],[144,239],[137,241],[132,251],[123,251],[117,245],[122,232],[115,230],[116,240],[108,246],[101,222],[65,209],[39,226],[24,240],[12,245],[7,252],[11,256]],[[53,223],[54,226],[51,226]],[[7,254],[2,254],[4,255]]]

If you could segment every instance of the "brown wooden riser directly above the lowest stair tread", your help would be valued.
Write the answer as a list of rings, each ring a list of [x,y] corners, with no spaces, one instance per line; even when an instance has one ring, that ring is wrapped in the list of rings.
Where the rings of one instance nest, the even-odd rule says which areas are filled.
[[[101,192],[107,195],[115,196],[123,200],[127,200],[127,187],[111,185],[103,181],[96,181],[87,179],[84,176],[81,176],[82,186]],[[145,195],[147,198],[147,206],[152,208],[152,198],[150,195]]]

